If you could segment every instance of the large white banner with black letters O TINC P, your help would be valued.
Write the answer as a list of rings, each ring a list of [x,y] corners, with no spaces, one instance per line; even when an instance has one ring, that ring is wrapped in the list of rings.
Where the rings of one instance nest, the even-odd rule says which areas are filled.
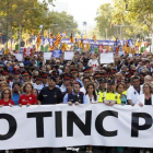
[[[0,150],[75,145],[153,148],[152,117],[152,106],[2,107]]]

